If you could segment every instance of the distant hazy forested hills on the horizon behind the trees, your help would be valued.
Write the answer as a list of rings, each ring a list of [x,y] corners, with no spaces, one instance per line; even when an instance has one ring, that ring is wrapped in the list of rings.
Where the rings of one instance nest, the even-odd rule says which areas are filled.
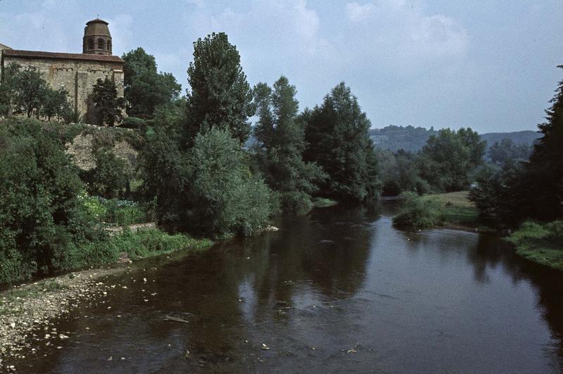
[[[369,130],[369,135],[377,147],[391,151],[398,151],[399,149],[419,151],[426,144],[426,140],[437,133],[438,130],[434,130],[434,127],[427,130],[424,127],[394,125]],[[531,130],[481,134],[481,139],[486,140],[487,147],[491,147],[495,142],[500,142],[502,139],[510,139],[514,144],[531,145],[538,137],[540,137],[540,134]]]

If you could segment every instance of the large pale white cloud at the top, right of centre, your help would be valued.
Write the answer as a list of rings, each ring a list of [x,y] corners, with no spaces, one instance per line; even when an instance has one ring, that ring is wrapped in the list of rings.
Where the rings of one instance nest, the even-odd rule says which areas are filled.
[[[377,59],[391,70],[442,66],[464,58],[467,31],[456,20],[424,11],[420,1],[380,0],[346,4],[348,29],[341,41],[350,58]],[[350,61],[348,61],[350,63]]]

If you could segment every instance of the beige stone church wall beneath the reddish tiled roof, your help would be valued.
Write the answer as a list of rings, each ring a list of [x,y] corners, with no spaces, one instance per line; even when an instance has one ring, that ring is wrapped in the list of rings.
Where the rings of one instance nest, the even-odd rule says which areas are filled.
[[[15,62],[23,68],[38,69],[51,88],[61,87],[69,92],[69,101],[79,111],[87,123],[99,124],[91,92],[96,81],[106,77],[115,82],[118,96],[123,96],[123,64],[112,61],[84,61],[58,58],[24,58],[4,56],[4,66]]]

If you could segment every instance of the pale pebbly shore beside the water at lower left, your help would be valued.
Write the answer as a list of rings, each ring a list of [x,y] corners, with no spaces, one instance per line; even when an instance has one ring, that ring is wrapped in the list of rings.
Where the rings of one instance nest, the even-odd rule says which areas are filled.
[[[53,321],[79,304],[103,297],[110,275],[127,268],[83,270],[13,287],[0,293],[0,372],[15,371],[13,361],[25,359],[22,351],[42,354],[40,347],[56,346],[70,332],[52,328]]]

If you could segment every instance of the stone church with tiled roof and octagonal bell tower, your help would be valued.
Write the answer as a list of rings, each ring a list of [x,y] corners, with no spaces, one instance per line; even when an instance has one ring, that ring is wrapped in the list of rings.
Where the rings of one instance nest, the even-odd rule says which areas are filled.
[[[123,96],[123,60],[112,54],[108,23],[95,19],[86,23],[82,38],[82,54],[23,51],[0,44],[0,70],[18,63],[23,68],[35,68],[53,89],[64,88],[69,101],[86,123],[98,123],[91,92],[96,81],[109,77],[115,82],[118,96]]]

